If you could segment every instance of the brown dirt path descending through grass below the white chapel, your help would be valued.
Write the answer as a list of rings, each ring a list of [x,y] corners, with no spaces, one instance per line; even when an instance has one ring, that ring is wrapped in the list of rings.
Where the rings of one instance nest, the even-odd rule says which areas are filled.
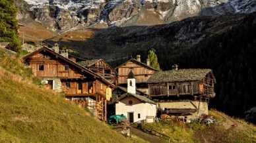
[[[139,136],[140,138],[143,138],[148,142],[154,142],[154,143],[164,142],[164,140],[161,140],[161,138],[159,138],[158,136],[144,133],[143,131],[136,129],[134,127],[131,127],[131,134],[135,134],[136,136]]]

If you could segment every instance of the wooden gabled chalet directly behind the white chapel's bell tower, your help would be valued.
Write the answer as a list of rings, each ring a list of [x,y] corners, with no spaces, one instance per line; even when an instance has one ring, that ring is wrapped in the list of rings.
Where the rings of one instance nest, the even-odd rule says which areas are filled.
[[[127,60],[127,62],[117,66],[115,68],[117,70],[117,85],[126,87],[127,85],[127,77],[130,72],[133,72],[136,78],[136,86],[139,91],[148,94],[148,78],[153,75],[158,70],[152,68],[147,60],[147,63],[144,64],[141,62],[141,57],[137,55],[137,59],[131,58]]]

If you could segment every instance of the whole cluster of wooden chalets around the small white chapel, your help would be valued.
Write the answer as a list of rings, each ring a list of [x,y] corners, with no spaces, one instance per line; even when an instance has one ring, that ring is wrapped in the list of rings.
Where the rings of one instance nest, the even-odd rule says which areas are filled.
[[[123,115],[129,123],[161,117],[191,122],[208,115],[216,80],[210,69],[158,71],[141,56],[113,68],[103,59],[84,60],[59,46],[46,46],[22,57],[42,84],[65,92],[67,102],[87,108],[101,121]]]

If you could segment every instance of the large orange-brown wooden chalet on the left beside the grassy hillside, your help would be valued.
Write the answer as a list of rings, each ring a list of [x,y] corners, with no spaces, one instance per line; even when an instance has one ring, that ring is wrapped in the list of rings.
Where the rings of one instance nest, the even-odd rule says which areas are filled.
[[[58,49],[42,47],[24,56],[22,61],[46,87],[64,91],[67,99],[82,100],[79,103],[84,105],[84,99],[90,97],[96,103],[94,108],[99,119],[106,120],[107,102],[115,88],[110,81],[59,54]]]

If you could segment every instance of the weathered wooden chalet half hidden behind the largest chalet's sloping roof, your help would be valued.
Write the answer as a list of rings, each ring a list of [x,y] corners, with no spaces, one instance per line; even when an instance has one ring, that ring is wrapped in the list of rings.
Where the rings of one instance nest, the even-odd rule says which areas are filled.
[[[117,83],[117,73],[115,70],[103,59],[93,59],[93,60],[82,60],[78,62],[81,66],[92,70],[92,72],[102,75],[105,79],[111,83]]]

